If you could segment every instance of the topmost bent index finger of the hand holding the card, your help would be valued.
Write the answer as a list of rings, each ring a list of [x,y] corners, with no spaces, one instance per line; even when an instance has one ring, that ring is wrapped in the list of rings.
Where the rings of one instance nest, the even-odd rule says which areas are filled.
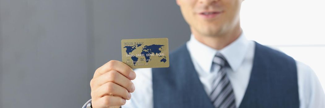
[[[117,61],[117,60],[111,60],[104,64],[103,66],[99,67],[94,74],[94,78],[97,78],[106,72],[109,72],[111,70],[115,70],[122,75],[124,75],[126,78],[129,78],[130,80],[133,80],[136,78],[136,73],[132,70],[130,66],[127,66],[123,62]]]

